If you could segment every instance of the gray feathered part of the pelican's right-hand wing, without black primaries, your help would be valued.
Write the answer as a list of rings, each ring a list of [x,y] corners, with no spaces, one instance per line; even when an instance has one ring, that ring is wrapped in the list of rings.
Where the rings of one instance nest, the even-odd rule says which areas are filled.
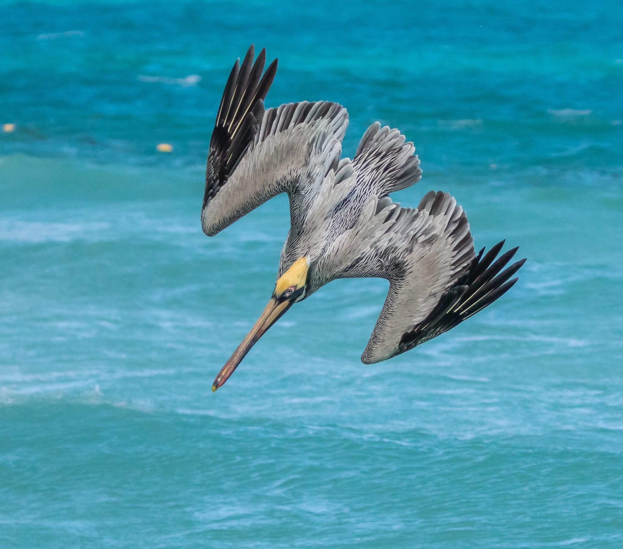
[[[388,217],[393,222],[363,260],[368,276],[389,280],[364,363],[402,352],[402,335],[427,317],[473,259],[467,216],[448,193],[431,191],[416,209],[394,204]]]

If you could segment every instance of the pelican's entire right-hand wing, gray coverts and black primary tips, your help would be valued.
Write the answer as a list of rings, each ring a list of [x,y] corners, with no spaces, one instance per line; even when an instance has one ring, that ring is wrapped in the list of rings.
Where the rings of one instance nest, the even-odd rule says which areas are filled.
[[[366,364],[404,353],[487,307],[515,284],[509,279],[525,262],[502,271],[517,251],[495,260],[504,242],[475,256],[467,216],[448,193],[430,191],[417,209],[397,206],[389,215],[396,221],[363,260],[367,276],[390,282],[361,356]]]

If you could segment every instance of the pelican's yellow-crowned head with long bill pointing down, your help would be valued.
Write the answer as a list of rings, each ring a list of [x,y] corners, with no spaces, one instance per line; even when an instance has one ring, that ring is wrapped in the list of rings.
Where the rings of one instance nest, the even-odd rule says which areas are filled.
[[[212,383],[212,391],[216,391],[229,379],[229,376],[234,373],[234,370],[249,352],[250,348],[264,335],[266,330],[277,322],[283,313],[292,307],[294,303],[305,298],[309,265],[310,259],[307,255],[299,257],[290,269],[277,280],[275,291],[268,305],[264,308],[264,312],[257,319],[250,332],[247,333],[247,337],[242,340],[234,354],[219,371],[214,383]]]

